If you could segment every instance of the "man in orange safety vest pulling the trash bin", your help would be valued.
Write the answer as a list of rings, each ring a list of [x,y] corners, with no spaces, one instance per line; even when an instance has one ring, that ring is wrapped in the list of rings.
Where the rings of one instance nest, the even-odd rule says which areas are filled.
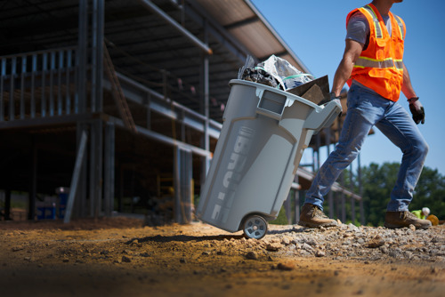
[[[358,156],[374,126],[403,152],[384,226],[391,229],[410,224],[417,229],[431,226],[430,221],[418,219],[408,208],[428,144],[416,125],[425,123],[425,111],[403,63],[405,23],[390,12],[392,4],[401,2],[374,0],[353,10],[346,18],[344,56],[336,69],[331,99],[340,98],[347,82],[350,85],[347,114],[336,149],[321,166],[306,194],[299,221],[302,226],[336,226],[337,222],[323,213],[323,197],[344,168]],[[412,118],[397,102],[401,92],[408,98]]]

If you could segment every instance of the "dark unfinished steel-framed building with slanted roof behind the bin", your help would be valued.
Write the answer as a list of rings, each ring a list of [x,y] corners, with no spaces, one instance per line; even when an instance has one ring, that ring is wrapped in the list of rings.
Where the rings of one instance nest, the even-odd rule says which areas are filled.
[[[118,212],[188,222],[221,132],[228,83],[247,56],[274,54],[310,73],[249,0],[0,5],[4,219],[12,197],[24,195],[28,220],[49,202],[56,217]],[[290,222],[320,148],[336,143],[341,122],[312,139],[312,169],[298,170],[285,203]],[[329,215],[355,221],[360,197],[340,184],[333,192]]]

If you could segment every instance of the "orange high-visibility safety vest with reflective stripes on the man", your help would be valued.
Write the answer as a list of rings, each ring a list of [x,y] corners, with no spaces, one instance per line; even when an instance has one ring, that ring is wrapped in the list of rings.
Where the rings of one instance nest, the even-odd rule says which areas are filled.
[[[361,52],[352,69],[348,84],[352,79],[374,90],[382,97],[397,101],[403,83],[403,41],[405,39],[405,23],[400,17],[389,12],[392,35],[390,36],[384,20],[376,6],[368,4],[349,12],[346,27],[354,12],[360,11],[369,23],[368,48]]]

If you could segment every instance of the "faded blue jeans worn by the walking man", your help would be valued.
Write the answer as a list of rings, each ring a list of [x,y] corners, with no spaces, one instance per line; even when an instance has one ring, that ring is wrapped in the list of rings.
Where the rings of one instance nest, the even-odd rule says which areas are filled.
[[[352,84],[348,92],[347,106],[347,114],[336,149],[329,155],[312,181],[304,203],[317,205],[323,210],[323,197],[328,194],[344,168],[359,155],[368,132],[376,125],[393,144],[401,148],[403,153],[401,168],[386,211],[408,211],[408,205],[413,198],[413,191],[428,153],[428,144],[416,123],[399,103],[386,100],[356,84]],[[380,153],[385,154],[384,151]]]

